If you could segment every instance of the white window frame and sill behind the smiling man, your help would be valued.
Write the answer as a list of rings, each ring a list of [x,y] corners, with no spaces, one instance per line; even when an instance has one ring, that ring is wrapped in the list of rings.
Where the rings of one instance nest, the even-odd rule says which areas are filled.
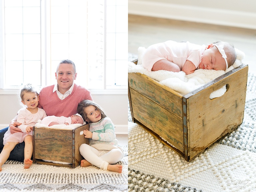
[[[4,6],[3,1],[0,0],[0,11],[2,14],[0,14],[0,20],[4,22],[3,20],[3,14],[4,14]],[[48,45],[50,45],[50,28],[46,26],[45,23],[48,23],[50,21],[49,14],[46,14],[47,10],[50,9],[50,1],[48,0],[41,0],[41,83],[42,86],[51,85],[50,83],[50,76],[52,75],[50,66],[46,65],[46,63],[50,63],[50,49]],[[106,5],[106,0],[105,0]],[[106,17],[106,6],[105,6],[105,17]],[[4,24],[4,23],[3,23]],[[106,24],[106,20],[105,20]],[[106,31],[106,25],[105,31]],[[104,36],[106,37],[106,33],[104,33]],[[3,53],[4,49],[4,33],[2,25],[0,26],[0,38],[2,39],[2,42],[0,44],[0,53]],[[104,54],[106,54],[106,41],[104,41]],[[4,76],[4,62],[5,58],[4,55],[0,55],[0,94],[1,95],[13,95],[13,94],[19,94],[20,88],[4,88],[4,82],[3,82],[3,76]],[[80,73],[78,73],[80,75]],[[89,89],[91,91],[92,95],[127,95],[128,94],[128,87],[122,86],[120,88],[115,89],[106,89],[106,57],[104,56],[104,85],[103,89]]]

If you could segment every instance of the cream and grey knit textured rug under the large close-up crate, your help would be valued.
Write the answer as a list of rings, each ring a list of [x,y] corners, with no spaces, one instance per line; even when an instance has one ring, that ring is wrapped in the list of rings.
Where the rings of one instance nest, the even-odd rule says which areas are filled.
[[[128,106],[128,191],[256,191],[255,85],[249,73],[242,125],[191,162],[131,122]]]

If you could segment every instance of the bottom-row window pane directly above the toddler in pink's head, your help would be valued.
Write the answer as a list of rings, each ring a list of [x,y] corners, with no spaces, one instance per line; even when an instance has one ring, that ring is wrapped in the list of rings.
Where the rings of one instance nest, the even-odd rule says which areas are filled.
[[[41,85],[40,61],[24,61],[24,84]]]

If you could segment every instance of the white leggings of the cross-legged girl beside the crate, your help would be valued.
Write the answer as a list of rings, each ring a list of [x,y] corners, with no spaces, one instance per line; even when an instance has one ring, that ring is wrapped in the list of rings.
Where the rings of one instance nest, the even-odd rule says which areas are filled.
[[[123,153],[120,149],[112,149],[110,151],[97,150],[87,144],[82,144],[79,147],[81,155],[86,161],[103,170],[107,170],[108,164],[114,164],[123,158]]]

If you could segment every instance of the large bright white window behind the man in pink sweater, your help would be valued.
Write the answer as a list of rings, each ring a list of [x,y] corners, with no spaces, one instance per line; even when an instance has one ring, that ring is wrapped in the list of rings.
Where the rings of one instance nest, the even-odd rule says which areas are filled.
[[[0,88],[56,83],[70,59],[75,83],[127,90],[127,0],[0,0]]]

